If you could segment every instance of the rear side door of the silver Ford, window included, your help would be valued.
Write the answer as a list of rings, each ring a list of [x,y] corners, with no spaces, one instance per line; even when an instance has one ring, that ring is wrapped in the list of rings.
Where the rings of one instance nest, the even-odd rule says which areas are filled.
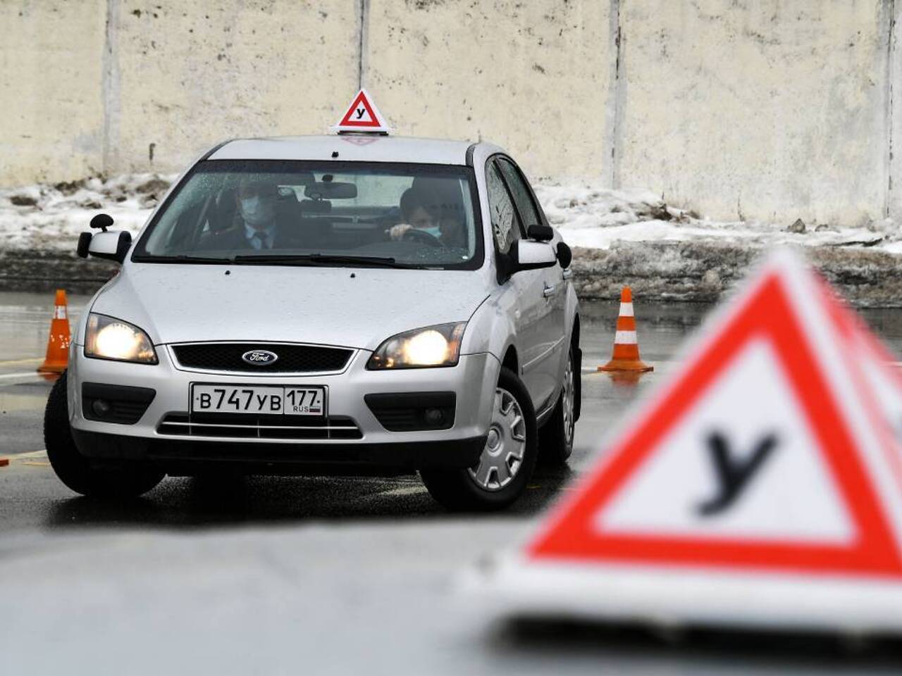
[[[514,206],[520,214],[520,221],[526,233],[530,225],[543,225],[545,219],[535,196],[520,168],[508,157],[496,158],[502,178],[510,189]],[[566,294],[561,279],[560,265],[550,268],[531,270],[534,278],[531,281],[529,294],[541,306],[536,313],[536,353],[529,368],[535,371],[534,378],[541,382],[542,399],[536,408],[540,413],[542,407],[553,403],[551,397],[557,391],[557,385],[563,374],[564,336],[566,335],[564,312]]]

